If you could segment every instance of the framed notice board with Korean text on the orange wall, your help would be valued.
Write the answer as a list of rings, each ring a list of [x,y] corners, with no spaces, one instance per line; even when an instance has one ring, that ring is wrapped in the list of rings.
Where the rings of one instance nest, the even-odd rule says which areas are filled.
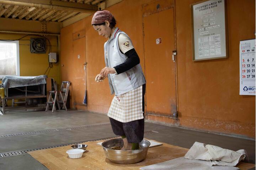
[[[190,5],[193,61],[228,57],[225,0]]]

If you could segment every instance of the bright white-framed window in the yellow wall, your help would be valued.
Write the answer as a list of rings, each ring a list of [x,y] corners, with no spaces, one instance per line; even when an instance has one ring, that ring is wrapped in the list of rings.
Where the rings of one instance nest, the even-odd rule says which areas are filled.
[[[0,78],[20,76],[19,41],[0,41]]]

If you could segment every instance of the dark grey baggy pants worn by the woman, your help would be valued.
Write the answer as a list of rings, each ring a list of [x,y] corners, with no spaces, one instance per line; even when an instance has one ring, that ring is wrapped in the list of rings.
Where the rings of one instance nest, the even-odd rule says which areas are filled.
[[[142,111],[145,111],[145,95],[146,84],[142,85]],[[144,113],[143,113],[144,117]],[[126,136],[129,143],[139,143],[144,137],[144,118],[139,120],[122,123],[110,118],[110,123],[114,134],[118,136]]]

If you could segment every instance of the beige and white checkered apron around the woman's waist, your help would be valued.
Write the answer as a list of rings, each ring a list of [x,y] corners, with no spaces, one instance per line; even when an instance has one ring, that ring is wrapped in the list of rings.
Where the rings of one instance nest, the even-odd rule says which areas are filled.
[[[142,86],[125,94],[114,96],[107,115],[122,123],[143,119]]]

